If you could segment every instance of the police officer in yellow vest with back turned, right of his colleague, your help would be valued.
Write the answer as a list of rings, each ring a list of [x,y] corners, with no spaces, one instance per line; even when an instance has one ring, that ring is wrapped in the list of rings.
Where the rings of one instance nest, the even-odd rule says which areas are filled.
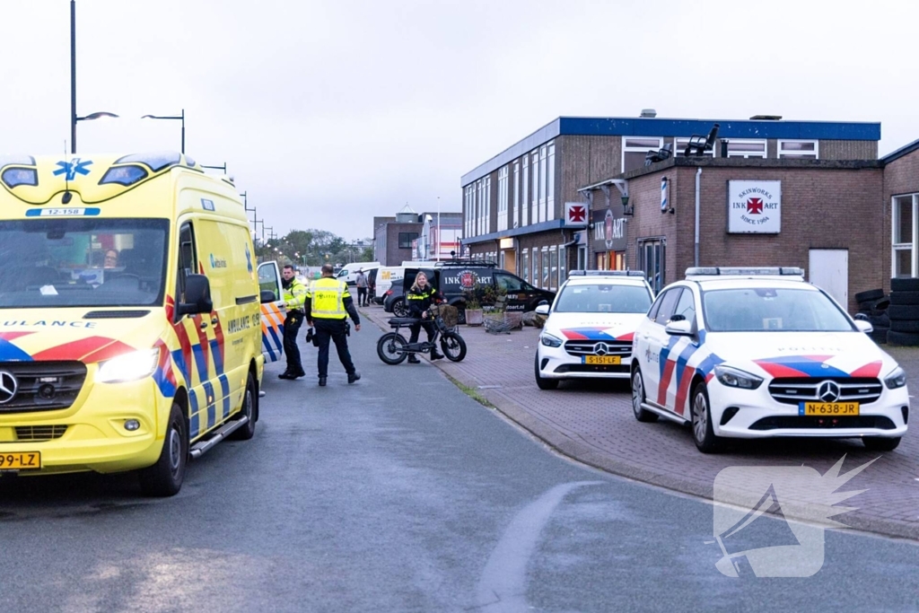
[[[360,331],[360,316],[354,306],[354,300],[347,290],[345,281],[334,278],[335,268],[331,264],[323,265],[323,277],[312,282],[306,292],[306,323],[316,327],[316,340],[319,342],[319,385],[325,385],[329,373],[329,340],[335,341],[338,359],[347,372],[347,382],[354,383],[360,374],[354,368],[351,354],[347,350],[346,319],[347,315],[354,320],[354,329]]]

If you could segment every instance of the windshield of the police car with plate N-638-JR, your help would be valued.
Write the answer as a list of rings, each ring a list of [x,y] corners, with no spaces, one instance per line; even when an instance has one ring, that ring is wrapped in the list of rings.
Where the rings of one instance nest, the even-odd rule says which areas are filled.
[[[833,301],[812,289],[713,289],[702,294],[711,332],[851,332]]]

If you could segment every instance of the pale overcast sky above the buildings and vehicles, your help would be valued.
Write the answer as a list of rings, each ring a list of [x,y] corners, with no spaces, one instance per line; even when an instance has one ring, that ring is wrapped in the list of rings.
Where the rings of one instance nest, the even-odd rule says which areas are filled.
[[[79,153],[226,163],[278,234],[460,210],[459,177],[559,116],[879,121],[919,139],[919,3],[77,0]],[[0,0],[0,153],[70,139],[69,0]]]

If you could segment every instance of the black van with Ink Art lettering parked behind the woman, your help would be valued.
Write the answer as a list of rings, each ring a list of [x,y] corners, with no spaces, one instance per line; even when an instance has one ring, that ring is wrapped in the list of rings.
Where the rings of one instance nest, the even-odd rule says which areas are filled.
[[[513,275],[503,268],[498,268],[494,262],[487,260],[447,260],[443,264],[430,268],[405,268],[403,289],[405,292],[412,287],[415,275],[424,272],[430,283],[440,290],[451,304],[459,308],[459,322],[465,323],[466,296],[465,289],[480,286],[490,286],[494,289],[504,289],[506,292],[505,311],[526,312],[533,311],[542,301],[550,304],[555,300],[555,292],[535,288],[522,278]],[[399,313],[404,308],[402,303],[393,305],[392,312]],[[399,309],[399,310],[397,310]]]

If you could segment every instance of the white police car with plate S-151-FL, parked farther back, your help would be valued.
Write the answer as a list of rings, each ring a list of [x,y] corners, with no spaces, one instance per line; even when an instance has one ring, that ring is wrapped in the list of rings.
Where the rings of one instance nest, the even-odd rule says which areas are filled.
[[[536,384],[554,390],[562,379],[628,379],[632,334],[653,294],[644,273],[573,270],[559,289],[536,350]]]

